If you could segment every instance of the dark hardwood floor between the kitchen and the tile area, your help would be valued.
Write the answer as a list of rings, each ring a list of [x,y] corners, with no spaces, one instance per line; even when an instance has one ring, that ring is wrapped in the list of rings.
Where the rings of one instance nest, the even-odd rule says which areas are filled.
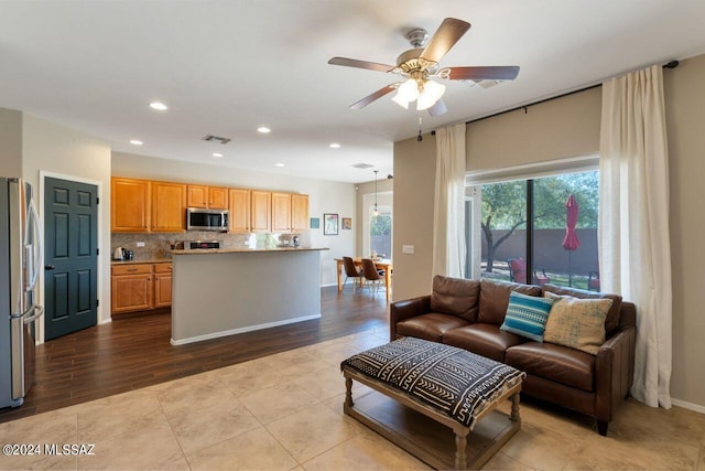
[[[0,422],[203,373],[388,325],[384,293],[321,292],[322,318],[187,345],[170,343],[169,313],[113,320],[36,349],[36,378],[24,405]]]

